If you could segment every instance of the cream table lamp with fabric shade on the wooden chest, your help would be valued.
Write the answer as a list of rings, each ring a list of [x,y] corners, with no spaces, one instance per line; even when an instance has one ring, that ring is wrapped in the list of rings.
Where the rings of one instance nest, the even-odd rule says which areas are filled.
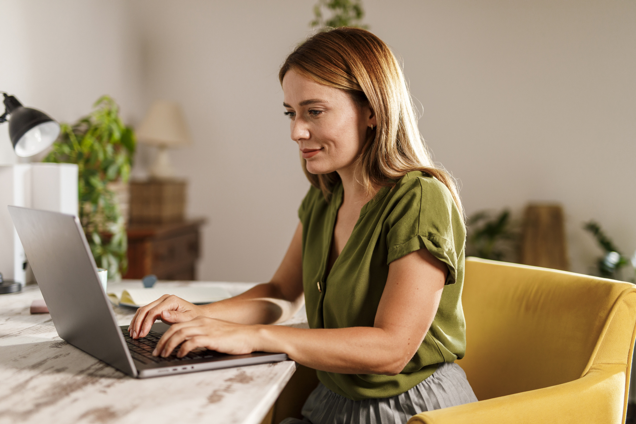
[[[146,117],[137,128],[137,140],[158,147],[150,176],[155,179],[172,179],[174,168],[168,156],[169,147],[183,147],[192,144],[181,107],[169,100],[156,100]]]

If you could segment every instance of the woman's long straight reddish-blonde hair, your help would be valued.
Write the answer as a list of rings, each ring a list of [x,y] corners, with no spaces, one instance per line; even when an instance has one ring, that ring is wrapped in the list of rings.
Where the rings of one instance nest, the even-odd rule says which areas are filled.
[[[407,172],[420,170],[450,190],[464,216],[455,179],[431,160],[417,127],[404,74],[384,41],[356,27],[319,32],[287,56],[280,67],[281,85],[291,69],[304,78],[348,92],[358,104],[370,106],[375,113],[377,127],[368,132],[355,165],[356,175],[368,194],[375,193],[378,187],[394,185],[394,180]],[[301,163],[307,179],[329,201],[340,181],[338,173],[311,174],[307,162],[303,159]]]

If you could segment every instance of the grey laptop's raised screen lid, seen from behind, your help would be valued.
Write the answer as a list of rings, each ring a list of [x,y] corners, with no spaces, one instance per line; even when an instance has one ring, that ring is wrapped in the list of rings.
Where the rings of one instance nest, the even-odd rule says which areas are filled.
[[[86,236],[73,215],[10,206],[57,334],[124,373],[137,375],[97,276]]]

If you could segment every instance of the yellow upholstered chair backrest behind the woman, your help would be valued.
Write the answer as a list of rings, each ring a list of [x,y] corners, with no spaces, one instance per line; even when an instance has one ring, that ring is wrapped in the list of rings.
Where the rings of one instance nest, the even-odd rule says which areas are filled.
[[[617,311],[636,308],[635,287],[468,258],[462,294],[467,348],[457,363],[479,400],[576,380],[599,360],[626,364],[628,373],[633,312],[625,324],[610,324]]]

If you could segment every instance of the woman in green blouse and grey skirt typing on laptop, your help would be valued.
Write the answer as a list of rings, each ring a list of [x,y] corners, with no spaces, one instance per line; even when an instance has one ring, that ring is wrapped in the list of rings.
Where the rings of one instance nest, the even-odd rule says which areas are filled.
[[[284,352],[317,370],[306,421],[404,423],[476,400],[465,350],[462,206],[434,167],[389,48],[363,29],[316,34],[280,69],[284,112],[312,188],[272,281],[214,304],[165,295],[133,338],[174,323],[155,351]],[[305,301],[310,329],[275,324]],[[297,420],[296,420],[297,421]],[[287,423],[296,422],[287,419]]]

